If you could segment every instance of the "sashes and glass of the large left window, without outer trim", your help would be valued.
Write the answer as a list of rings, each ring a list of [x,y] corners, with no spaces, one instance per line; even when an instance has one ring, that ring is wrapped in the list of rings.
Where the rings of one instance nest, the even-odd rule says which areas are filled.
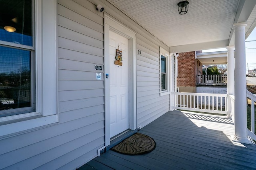
[[[0,117],[35,111],[35,45],[32,0],[0,6]]]

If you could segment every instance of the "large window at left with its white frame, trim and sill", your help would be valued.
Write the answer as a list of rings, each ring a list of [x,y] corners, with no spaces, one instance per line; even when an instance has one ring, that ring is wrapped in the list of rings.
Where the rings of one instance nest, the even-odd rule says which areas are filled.
[[[58,122],[56,0],[0,2],[0,137],[4,137]]]

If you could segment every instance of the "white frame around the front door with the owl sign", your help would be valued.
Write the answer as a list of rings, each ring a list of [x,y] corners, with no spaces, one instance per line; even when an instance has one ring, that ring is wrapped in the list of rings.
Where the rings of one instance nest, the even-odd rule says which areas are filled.
[[[105,86],[105,147],[110,145],[110,75],[109,31],[114,31],[129,39],[129,127],[137,128],[136,100],[136,33],[104,14],[104,86]]]

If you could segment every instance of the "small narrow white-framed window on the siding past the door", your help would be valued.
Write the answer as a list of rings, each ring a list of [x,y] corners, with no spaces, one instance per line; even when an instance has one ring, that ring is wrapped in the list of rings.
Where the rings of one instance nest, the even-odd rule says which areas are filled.
[[[169,92],[169,53],[160,48],[160,95],[170,94]]]

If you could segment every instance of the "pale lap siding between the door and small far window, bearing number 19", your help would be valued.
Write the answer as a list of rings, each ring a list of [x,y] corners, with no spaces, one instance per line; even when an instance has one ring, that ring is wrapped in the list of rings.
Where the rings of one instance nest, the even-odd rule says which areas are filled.
[[[160,92],[159,44],[137,34],[137,123],[144,127],[169,111],[169,95]]]

